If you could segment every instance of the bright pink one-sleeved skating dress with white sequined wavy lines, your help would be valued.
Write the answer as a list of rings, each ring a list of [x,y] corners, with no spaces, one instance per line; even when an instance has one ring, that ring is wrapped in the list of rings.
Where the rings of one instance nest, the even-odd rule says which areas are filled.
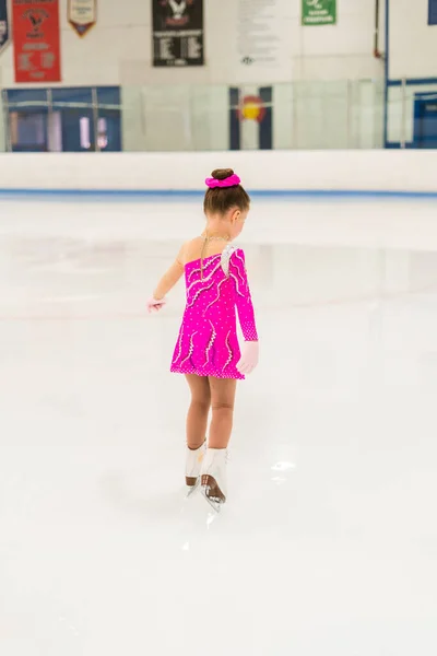
[[[170,371],[216,378],[244,378],[236,312],[245,341],[257,341],[253,306],[247,281],[245,254],[228,245],[222,254],[185,267],[187,305]]]

